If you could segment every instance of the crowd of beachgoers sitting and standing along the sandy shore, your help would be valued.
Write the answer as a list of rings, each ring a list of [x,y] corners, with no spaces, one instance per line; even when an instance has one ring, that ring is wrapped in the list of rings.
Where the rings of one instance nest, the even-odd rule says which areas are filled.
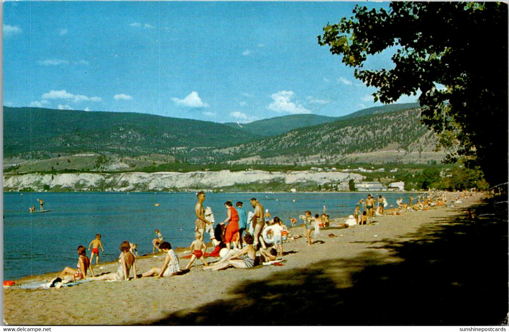
[[[313,215],[311,211],[305,211],[304,214],[299,216],[304,222],[304,232],[303,234],[297,234],[301,232],[299,231],[301,227],[293,227],[297,223],[297,218],[290,219],[291,227],[289,228],[279,217],[272,217],[268,210],[264,210],[263,205],[256,198],[251,198],[249,203],[253,211],[248,212],[244,209],[243,202],[236,202],[235,206],[231,201],[225,202],[226,218],[215,224],[211,209],[209,207],[204,208],[206,193],[200,191],[196,194],[195,233],[194,241],[189,246],[190,255],[180,257],[180,259],[189,259],[185,268],[181,268],[179,256],[172,245],[168,241],[164,241],[163,235],[156,229],[156,238],[152,240],[152,245],[153,253],[156,250],[164,253],[164,260],[160,266],[138,274],[136,270],[137,245],[129,241],[123,241],[120,245],[121,254],[118,270],[96,275],[93,258],[96,257],[97,267],[99,249],[104,252],[101,235],[97,234],[96,238],[89,244],[90,258],[87,256],[86,247],[78,246],[76,268],[66,267],[58,277],[48,281],[47,286],[60,288],[68,283],[94,280],[128,281],[131,279],[131,271],[133,272],[133,278],[136,279],[170,277],[187,273],[196,259],[201,260],[203,270],[223,270],[229,267],[250,269],[257,265],[277,265],[282,261],[282,257],[288,254],[283,251],[283,244],[287,241],[304,238],[307,245],[312,246],[312,238],[317,239],[319,236],[323,236],[320,234],[320,230],[371,225],[377,222],[376,218],[380,215],[400,215],[407,211],[428,210],[438,206],[454,206],[454,204],[462,203],[461,200],[465,195],[472,195],[472,193],[457,192],[454,201],[449,203],[445,192],[430,190],[416,197],[410,195],[408,203],[403,201],[403,197],[400,197],[395,205],[389,205],[384,196],[378,195],[378,197],[375,197],[368,194],[365,200],[362,199],[358,202],[353,214],[346,220],[341,218],[330,220],[325,206],[323,212],[320,211],[321,214]],[[468,218],[474,218],[469,211]],[[209,246],[204,242],[206,233],[210,237],[209,246],[213,247],[211,252],[207,252]],[[209,262],[207,259],[209,257],[212,257],[215,261]]]

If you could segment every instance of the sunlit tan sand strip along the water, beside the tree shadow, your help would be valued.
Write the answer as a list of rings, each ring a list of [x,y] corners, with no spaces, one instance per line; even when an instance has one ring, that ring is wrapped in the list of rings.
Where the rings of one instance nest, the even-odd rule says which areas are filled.
[[[323,230],[320,237],[313,238],[312,246],[307,246],[305,239],[302,238],[295,242],[285,242],[283,246],[287,254],[282,257],[283,266],[268,265],[248,270],[229,268],[225,271],[203,271],[199,261],[194,263],[189,272],[181,276],[161,279],[141,278],[128,282],[95,281],[45,290],[26,290],[15,286],[4,288],[4,319],[8,324],[22,325],[154,323],[193,325],[200,324],[200,320],[194,318],[194,320],[181,320],[179,317],[200,315],[204,311],[207,312],[207,308],[213,304],[242,301],[244,295],[240,293],[236,295],[236,290],[243,289],[242,287],[257,287],[248,285],[257,285],[261,282],[268,282],[270,285],[277,279],[280,279],[280,282],[292,282],[296,278],[305,278],[306,271],[309,273],[316,269],[323,270],[330,279],[328,282],[336,284],[334,289],[351,288],[356,284],[355,273],[361,271],[358,267],[359,263],[345,265],[342,262],[349,260],[359,261],[362,264],[365,262],[367,264],[365,269],[380,264],[398,264],[403,261],[403,258],[395,256],[393,250],[389,248],[374,246],[374,243],[380,241],[398,243],[407,241],[405,239],[409,237],[418,237],[418,230],[422,227],[440,227],[441,224],[448,224],[449,222],[444,220],[463,214],[466,207],[479,202],[482,197],[483,195],[478,193],[472,197],[463,198],[464,203],[460,204],[459,208],[437,207],[425,211],[408,211],[398,216],[378,216],[375,218],[377,223],[373,225]],[[293,234],[303,233],[302,227],[293,227],[291,230]],[[181,255],[182,253],[179,254]],[[154,256],[157,257],[154,258]],[[160,267],[162,257],[163,255],[157,253],[138,257],[137,273],[148,271],[154,266]],[[217,259],[208,258],[207,260],[212,262]],[[337,263],[330,265],[336,260]],[[181,268],[187,262],[187,259],[180,258]],[[103,262],[101,266],[104,267],[101,273],[115,272],[118,263]],[[54,277],[54,274],[44,274],[19,280],[30,282],[44,279],[49,275]],[[300,281],[295,282],[299,285]],[[210,287],[209,284],[214,286]],[[280,291],[284,292],[284,289],[281,288]],[[287,293],[286,296],[291,295]],[[257,301],[264,303],[263,298],[262,296]],[[127,305],[128,303],[134,305]],[[80,308],[79,313],[75,311],[76,305]],[[119,305],[122,307],[120,311],[115,309],[119,308]],[[241,310],[241,308],[242,305],[235,310]],[[210,317],[212,316],[214,314]],[[172,317],[176,317],[177,320],[168,320],[173,319]],[[296,324],[308,322],[301,321],[300,318],[295,319]],[[237,321],[231,321],[230,324],[235,322]],[[271,320],[260,321],[262,324],[271,324],[270,322]],[[225,324],[226,321],[217,323]],[[319,322],[316,321],[316,323]],[[338,323],[341,324],[336,322]]]

